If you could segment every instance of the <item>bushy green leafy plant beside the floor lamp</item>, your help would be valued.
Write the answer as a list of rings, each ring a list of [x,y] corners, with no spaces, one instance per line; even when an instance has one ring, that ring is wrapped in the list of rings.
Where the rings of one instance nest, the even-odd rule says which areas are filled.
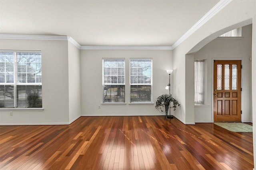
[[[171,102],[173,103],[173,106],[170,106]],[[180,106],[179,102],[175,98],[173,98],[171,94],[163,94],[156,99],[155,107],[161,113],[164,113],[164,111],[165,111],[166,116],[168,117],[169,107],[173,108],[173,110],[176,110],[177,105]],[[163,107],[165,108],[165,110],[163,109]],[[171,117],[171,115],[170,115],[170,117]]]

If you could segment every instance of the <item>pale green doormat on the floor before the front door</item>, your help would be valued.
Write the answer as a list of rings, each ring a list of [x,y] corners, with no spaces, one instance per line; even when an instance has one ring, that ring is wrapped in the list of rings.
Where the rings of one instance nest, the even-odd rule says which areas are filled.
[[[214,123],[224,129],[227,129],[232,132],[252,132],[252,125],[248,125],[246,123]]]

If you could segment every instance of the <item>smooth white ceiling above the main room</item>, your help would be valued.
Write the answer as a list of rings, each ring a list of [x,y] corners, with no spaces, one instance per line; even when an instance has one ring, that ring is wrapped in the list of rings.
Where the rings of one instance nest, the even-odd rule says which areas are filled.
[[[172,46],[220,0],[1,0],[0,33],[82,46]]]

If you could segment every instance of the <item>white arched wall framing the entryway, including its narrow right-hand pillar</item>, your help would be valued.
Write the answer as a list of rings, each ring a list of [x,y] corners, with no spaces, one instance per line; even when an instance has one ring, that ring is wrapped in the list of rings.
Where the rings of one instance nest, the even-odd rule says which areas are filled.
[[[187,62],[186,54],[195,53],[204,47],[207,43],[218,37],[228,30],[235,29],[237,27],[245,26],[252,23],[252,66],[256,65],[256,1],[238,1],[233,0],[223,8],[218,14],[213,16],[208,22],[202,25],[196,32],[194,32],[190,37],[183,41],[178,47],[173,51],[174,62],[173,66],[176,69],[173,75],[174,84],[173,87],[174,94],[179,100],[183,107],[178,108],[175,111],[175,116],[185,123],[190,122],[191,118],[190,111],[194,111],[194,99],[186,94],[186,82],[191,82],[190,79],[194,78],[194,70],[185,68]],[[191,62],[193,64],[193,62]],[[184,78],[183,78],[184,77]],[[180,79],[180,81],[175,82]],[[186,82],[185,82],[186,81]],[[178,85],[178,83],[180,84]],[[256,122],[256,69],[252,67],[252,119],[253,124]],[[185,100],[186,98],[186,100]],[[187,100],[190,98],[190,100]],[[189,104],[188,104],[189,102]],[[186,119],[188,117],[188,119]],[[253,126],[253,141],[254,150],[256,150],[256,126]],[[254,165],[256,164],[256,154],[254,152]],[[255,169],[255,168],[254,168]]]

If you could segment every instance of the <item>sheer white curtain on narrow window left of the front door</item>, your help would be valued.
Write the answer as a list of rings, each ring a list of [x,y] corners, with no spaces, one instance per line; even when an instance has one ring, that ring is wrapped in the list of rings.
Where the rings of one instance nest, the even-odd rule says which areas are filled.
[[[195,104],[204,104],[204,60],[195,60]]]

